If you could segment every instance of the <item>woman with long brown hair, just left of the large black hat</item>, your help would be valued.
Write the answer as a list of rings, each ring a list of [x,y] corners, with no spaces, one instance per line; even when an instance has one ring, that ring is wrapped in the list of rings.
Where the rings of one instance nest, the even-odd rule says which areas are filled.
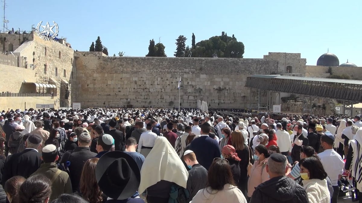
[[[89,203],[101,203],[107,198],[98,186],[96,180],[96,166],[99,158],[85,161],[80,177],[80,193]]]

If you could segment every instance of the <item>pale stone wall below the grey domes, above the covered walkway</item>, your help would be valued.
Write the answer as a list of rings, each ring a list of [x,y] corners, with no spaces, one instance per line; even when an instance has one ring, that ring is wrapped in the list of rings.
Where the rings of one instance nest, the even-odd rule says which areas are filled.
[[[306,66],[306,77],[327,78],[329,75],[327,73],[328,68],[328,66]],[[362,67],[333,66],[332,72],[334,75],[349,75],[351,79],[362,78]]]

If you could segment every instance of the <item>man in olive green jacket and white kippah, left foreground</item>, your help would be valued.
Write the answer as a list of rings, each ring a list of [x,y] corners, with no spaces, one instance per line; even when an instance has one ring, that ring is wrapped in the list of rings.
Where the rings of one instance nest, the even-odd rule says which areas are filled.
[[[57,168],[55,161],[59,159],[58,150],[53,144],[48,144],[42,149],[42,157],[44,161],[40,168],[30,176],[43,174],[51,181],[51,196],[49,202],[58,198],[63,193],[72,194],[72,183],[68,173]]]

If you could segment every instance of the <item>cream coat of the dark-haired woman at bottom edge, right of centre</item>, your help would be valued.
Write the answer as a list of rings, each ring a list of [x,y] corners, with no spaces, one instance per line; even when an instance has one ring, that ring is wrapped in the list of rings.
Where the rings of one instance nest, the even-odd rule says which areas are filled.
[[[211,193],[211,194],[210,194]],[[223,190],[213,191],[210,187],[199,190],[190,203],[247,203],[245,196],[233,185],[224,185]]]

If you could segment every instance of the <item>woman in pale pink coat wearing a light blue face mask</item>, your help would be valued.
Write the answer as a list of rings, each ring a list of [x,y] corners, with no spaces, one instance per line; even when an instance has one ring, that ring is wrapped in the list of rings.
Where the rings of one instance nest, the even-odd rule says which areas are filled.
[[[259,144],[255,147],[255,162],[251,168],[248,180],[248,197],[252,196],[255,188],[258,185],[269,180],[269,174],[266,172],[265,168],[266,164],[268,163],[269,156],[270,152],[264,145]]]

